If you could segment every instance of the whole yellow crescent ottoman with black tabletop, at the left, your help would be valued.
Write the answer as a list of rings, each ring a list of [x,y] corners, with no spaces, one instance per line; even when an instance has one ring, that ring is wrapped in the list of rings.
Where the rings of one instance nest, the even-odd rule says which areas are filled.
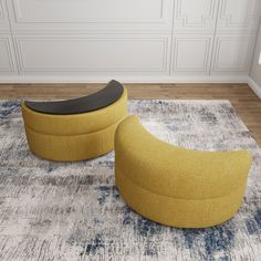
[[[114,148],[114,134],[127,116],[127,90],[118,82],[92,95],[59,102],[23,102],[30,149],[38,156],[74,161]]]

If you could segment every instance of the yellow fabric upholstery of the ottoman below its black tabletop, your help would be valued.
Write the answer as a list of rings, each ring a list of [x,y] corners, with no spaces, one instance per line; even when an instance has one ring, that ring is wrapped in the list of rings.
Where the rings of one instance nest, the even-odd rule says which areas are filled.
[[[58,161],[90,159],[113,150],[115,129],[127,116],[127,91],[117,102],[90,113],[43,114],[23,103],[22,115],[35,155]]]

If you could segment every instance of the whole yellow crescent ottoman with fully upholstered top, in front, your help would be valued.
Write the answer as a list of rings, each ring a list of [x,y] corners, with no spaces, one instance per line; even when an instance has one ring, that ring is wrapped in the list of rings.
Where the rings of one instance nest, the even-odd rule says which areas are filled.
[[[251,156],[247,150],[201,152],[169,145],[128,116],[115,134],[115,178],[142,216],[179,228],[225,222],[238,211]]]

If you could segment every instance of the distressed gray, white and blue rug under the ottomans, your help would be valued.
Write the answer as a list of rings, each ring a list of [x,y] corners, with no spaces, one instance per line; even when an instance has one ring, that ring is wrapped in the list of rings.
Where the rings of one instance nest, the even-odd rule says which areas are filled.
[[[260,260],[261,149],[227,101],[132,101],[160,139],[249,149],[253,166],[233,219],[175,229],[132,211],[114,184],[114,154],[62,164],[29,152],[20,103],[0,102],[0,260]]]

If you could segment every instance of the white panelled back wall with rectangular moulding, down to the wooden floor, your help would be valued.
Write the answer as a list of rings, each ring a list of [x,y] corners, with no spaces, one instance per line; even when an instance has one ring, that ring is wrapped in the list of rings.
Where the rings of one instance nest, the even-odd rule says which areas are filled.
[[[0,0],[0,82],[246,82],[260,0]]]

